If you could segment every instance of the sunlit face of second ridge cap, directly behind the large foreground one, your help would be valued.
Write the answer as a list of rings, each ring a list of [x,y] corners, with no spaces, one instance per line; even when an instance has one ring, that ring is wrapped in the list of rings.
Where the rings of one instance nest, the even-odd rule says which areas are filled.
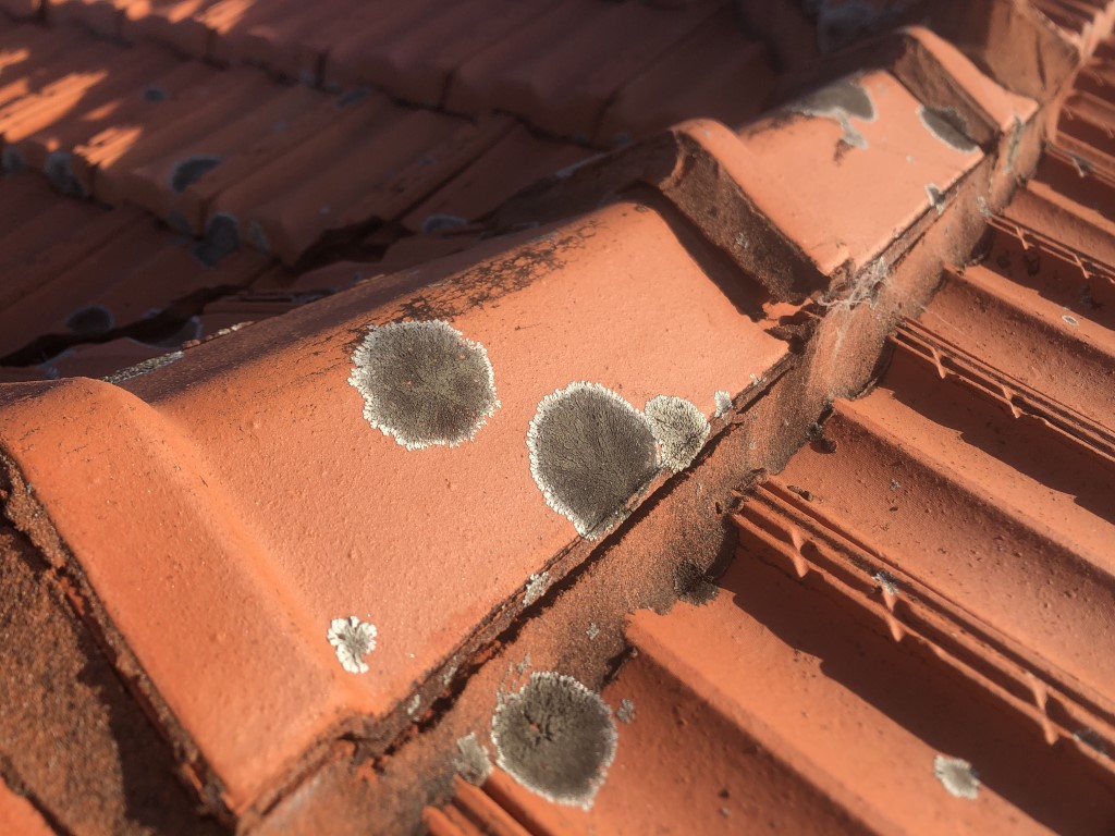
[[[985,158],[934,135],[922,109],[888,71],[846,76],[744,128],[754,163],[734,176],[822,273],[857,272]]]

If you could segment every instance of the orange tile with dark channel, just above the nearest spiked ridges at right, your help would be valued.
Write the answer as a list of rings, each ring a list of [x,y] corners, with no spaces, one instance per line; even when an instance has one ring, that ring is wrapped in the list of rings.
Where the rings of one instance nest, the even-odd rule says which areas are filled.
[[[1064,688],[1111,707],[1109,613],[1099,602],[1113,584],[1102,568],[1112,522],[1099,497],[1113,474],[1057,436],[977,397],[963,377],[941,381],[932,362],[898,353],[885,386],[835,406],[825,426],[835,453],[803,449],[779,482],[820,497],[821,513],[978,613]],[[1035,553],[1040,562],[1026,560]]]

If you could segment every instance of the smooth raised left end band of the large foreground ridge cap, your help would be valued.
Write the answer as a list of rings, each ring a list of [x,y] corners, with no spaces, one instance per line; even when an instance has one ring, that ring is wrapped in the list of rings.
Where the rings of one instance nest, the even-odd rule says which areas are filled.
[[[86,378],[0,397],[0,448],[243,808],[359,696],[313,641],[324,626],[269,570],[220,476],[143,400]]]

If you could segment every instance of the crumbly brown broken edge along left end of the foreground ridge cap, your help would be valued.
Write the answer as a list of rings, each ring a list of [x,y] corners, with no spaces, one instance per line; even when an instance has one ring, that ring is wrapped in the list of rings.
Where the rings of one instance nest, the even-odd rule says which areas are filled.
[[[138,658],[116,628],[100,602],[93,585],[86,579],[74,553],[56,531],[50,515],[30,492],[19,465],[0,449],[0,505],[7,522],[27,537],[55,577],[65,577],[72,584],[81,603],[88,607],[80,612],[75,607],[70,594],[66,594],[67,605],[75,620],[85,626],[97,650],[104,655],[109,669],[116,675],[125,692],[130,694],[147,721],[155,728],[171,751],[174,752],[174,772],[188,797],[195,797],[203,809],[219,822],[231,825],[235,817],[224,801],[224,786],[205,759],[200,747],[177,717],[171,710],[157,687],[149,680]],[[13,503],[16,508],[13,508]],[[21,512],[20,506],[25,506]],[[37,525],[25,528],[19,517],[27,515]]]

